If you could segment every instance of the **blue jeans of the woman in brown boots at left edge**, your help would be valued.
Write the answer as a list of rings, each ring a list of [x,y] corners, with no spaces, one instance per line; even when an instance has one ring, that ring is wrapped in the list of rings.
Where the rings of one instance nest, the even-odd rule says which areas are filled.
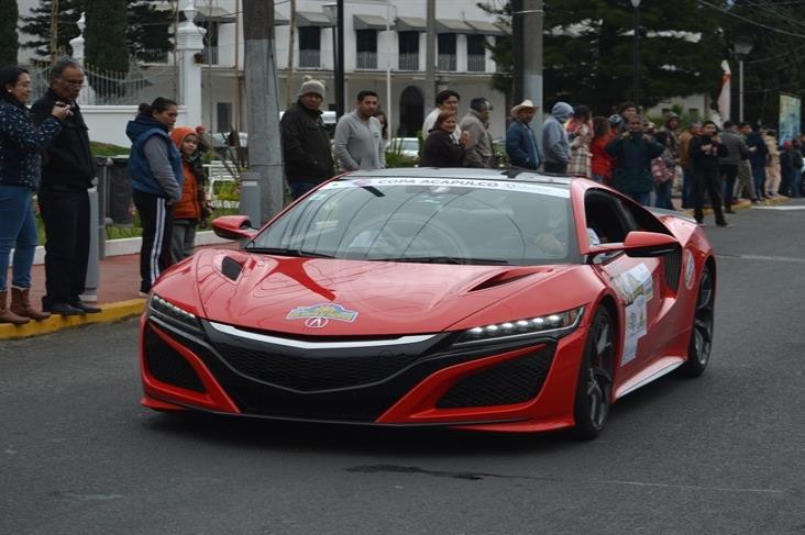
[[[31,288],[36,222],[31,189],[0,183],[0,291],[8,290],[9,254],[14,249],[11,285]]]

